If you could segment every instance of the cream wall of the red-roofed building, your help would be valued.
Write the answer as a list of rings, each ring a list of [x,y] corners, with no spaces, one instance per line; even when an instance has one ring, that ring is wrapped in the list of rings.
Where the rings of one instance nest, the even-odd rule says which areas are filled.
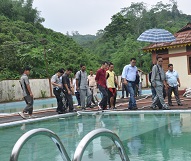
[[[170,57],[169,63],[173,64],[174,70],[179,74],[181,87],[180,90],[191,87],[191,75],[188,75],[187,56]]]

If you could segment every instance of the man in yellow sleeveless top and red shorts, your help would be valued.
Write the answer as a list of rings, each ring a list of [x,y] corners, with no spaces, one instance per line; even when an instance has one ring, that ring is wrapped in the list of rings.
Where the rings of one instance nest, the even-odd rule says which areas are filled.
[[[116,87],[118,86],[117,79],[115,77],[115,72],[113,71],[114,65],[113,63],[109,63],[109,70],[106,71],[106,78],[107,78],[107,88],[108,88],[108,102],[109,107],[111,109],[116,109],[116,96],[117,90]]]

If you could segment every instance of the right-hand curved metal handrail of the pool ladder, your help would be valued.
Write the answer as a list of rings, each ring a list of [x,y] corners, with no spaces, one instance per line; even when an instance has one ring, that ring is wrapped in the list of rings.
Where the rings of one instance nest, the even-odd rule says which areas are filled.
[[[119,139],[119,137],[112,131],[105,129],[105,128],[93,130],[93,131],[89,132],[86,136],[84,136],[76,148],[76,151],[74,153],[74,158],[72,161],[81,161],[83,153],[84,153],[86,147],[88,146],[88,144],[92,140],[94,140],[95,138],[100,137],[100,136],[106,136],[106,137],[110,138],[115,143],[115,145],[118,147],[122,161],[129,161],[125,148],[124,148],[121,140]]]

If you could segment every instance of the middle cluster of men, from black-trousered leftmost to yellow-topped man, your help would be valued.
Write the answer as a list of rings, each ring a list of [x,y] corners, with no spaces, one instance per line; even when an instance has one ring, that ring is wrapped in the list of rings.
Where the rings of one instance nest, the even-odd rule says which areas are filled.
[[[97,71],[96,75],[90,70],[90,75],[86,72],[85,64],[80,65],[80,70],[76,73],[73,83],[69,79],[72,69],[68,68],[65,72],[59,69],[58,72],[52,76],[51,84],[53,86],[53,93],[57,99],[57,112],[62,114],[66,112],[66,107],[63,106],[63,95],[68,102],[69,112],[75,111],[73,106],[72,95],[75,94],[78,101],[78,106],[83,110],[87,107],[92,107],[92,103],[96,105],[98,102],[97,88],[99,89],[102,99],[98,102],[99,109],[107,109],[109,107],[115,108],[116,101],[116,87],[118,81],[113,71],[114,65],[112,63],[103,62],[101,68]]]

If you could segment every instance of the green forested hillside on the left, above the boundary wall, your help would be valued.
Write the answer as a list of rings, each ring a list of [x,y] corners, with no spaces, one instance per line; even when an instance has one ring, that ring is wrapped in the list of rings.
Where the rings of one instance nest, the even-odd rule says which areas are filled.
[[[59,68],[79,70],[80,63],[96,69],[97,56],[72,38],[43,27],[33,0],[0,0],[0,79],[17,79],[24,66],[31,78],[46,78]],[[91,60],[91,61],[90,61]]]

